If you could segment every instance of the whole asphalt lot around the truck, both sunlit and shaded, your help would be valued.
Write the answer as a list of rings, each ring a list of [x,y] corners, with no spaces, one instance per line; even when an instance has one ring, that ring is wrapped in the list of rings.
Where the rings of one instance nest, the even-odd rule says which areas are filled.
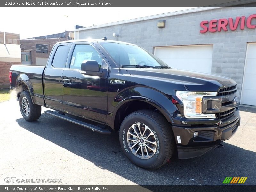
[[[132,164],[118,133],[92,132],[45,110],[27,122],[14,98],[0,103],[0,185],[221,185],[226,177],[248,177],[246,185],[256,184],[256,108],[241,107],[240,127],[223,148],[193,159],[174,156],[157,170]],[[11,177],[14,182],[6,179]],[[36,179],[40,182],[31,183]],[[54,179],[61,182],[48,182]]]

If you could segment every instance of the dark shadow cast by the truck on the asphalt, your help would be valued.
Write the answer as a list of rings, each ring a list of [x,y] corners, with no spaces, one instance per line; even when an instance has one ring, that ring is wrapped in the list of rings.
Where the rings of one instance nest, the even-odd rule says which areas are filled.
[[[16,121],[20,127],[139,185],[221,185],[225,177],[236,176],[248,177],[247,185],[256,183],[256,153],[228,143],[200,157],[186,160],[175,157],[160,169],[144,170],[126,158],[118,133],[92,133],[47,114],[35,122],[23,118]]]

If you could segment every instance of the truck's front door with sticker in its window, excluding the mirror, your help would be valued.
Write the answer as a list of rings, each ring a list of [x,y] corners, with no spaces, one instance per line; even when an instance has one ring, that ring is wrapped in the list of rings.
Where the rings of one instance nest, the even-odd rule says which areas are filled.
[[[81,73],[81,64],[95,60],[109,68],[106,58],[92,43],[73,43],[62,74],[64,111],[87,119],[107,122],[108,79]]]

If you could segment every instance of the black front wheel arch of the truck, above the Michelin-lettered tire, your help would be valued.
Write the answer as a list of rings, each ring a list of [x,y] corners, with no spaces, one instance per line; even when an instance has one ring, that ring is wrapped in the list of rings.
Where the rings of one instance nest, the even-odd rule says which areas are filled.
[[[131,110],[131,106],[133,110]],[[114,111],[110,126],[118,131],[125,116],[140,109],[147,109],[150,106],[153,110],[157,109],[169,123],[173,123],[171,115],[177,113],[178,108],[172,103],[172,96],[152,87],[136,86],[122,90],[115,96],[112,101]],[[121,113],[122,111],[124,113]]]

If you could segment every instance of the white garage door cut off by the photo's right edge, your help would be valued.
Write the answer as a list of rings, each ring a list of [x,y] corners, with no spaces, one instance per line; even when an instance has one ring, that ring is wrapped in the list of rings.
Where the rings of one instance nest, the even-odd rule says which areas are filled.
[[[256,106],[256,43],[247,45],[241,104]]]

